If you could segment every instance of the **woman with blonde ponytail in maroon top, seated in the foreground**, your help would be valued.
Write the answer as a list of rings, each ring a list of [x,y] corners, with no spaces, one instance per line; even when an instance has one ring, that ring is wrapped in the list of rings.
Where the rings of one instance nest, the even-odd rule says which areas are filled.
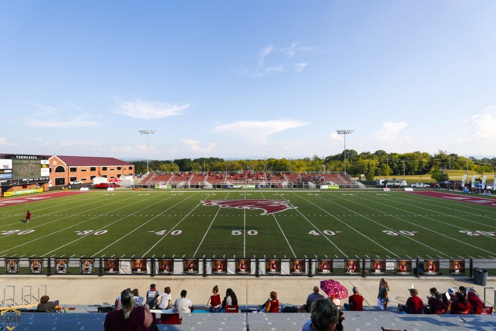
[[[105,317],[105,331],[148,331],[153,321],[150,307],[147,304],[135,307],[130,289],[121,292],[121,302],[121,309],[114,310]]]

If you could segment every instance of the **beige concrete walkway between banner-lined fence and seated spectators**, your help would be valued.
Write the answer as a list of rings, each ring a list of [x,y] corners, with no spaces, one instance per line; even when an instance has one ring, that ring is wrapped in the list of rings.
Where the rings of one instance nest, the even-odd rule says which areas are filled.
[[[151,283],[155,283],[157,290],[162,293],[164,287],[171,288],[173,301],[180,297],[183,289],[187,291],[187,297],[191,299],[194,306],[205,306],[212,287],[218,285],[222,297],[226,288],[234,290],[240,305],[258,305],[266,301],[270,291],[278,293],[281,305],[301,305],[305,303],[307,296],[312,292],[320,280],[329,277],[274,277],[261,276],[31,276],[31,275],[1,275],[1,283],[4,290],[1,291],[2,307],[14,305],[24,307],[35,306],[39,302],[39,294],[50,296],[50,300],[60,300],[62,306],[72,305],[101,305],[110,306],[114,304],[116,297],[127,287],[139,290],[141,296],[146,296]],[[333,277],[340,281],[352,294],[353,286],[357,286],[364,297],[364,305],[376,306],[377,291],[380,277],[358,277],[341,276]],[[419,296],[424,300],[429,295],[429,289],[436,287],[439,292],[445,292],[448,287],[474,286],[484,299],[484,287],[475,285],[469,277],[385,277],[389,282],[389,309],[396,310],[398,303],[405,303],[409,297],[408,289],[412,285],[418,289]],[[8,287],[11,285],[12,287]],[[24,286],[24,290],[22,290]],[[31,294],[29,295],[29,286]],[[496,277],[489,277],[487,286],[496,288]],[[46,289],[46,293],[45,293]],[[24,293],[23,293],[24,292]],[[324,294],[322,291],[321,294]],[[24,296],[23,296],[24,294]],[[347,299],[343,300],[347,302]],[[486,305],[495,305],[495,291],[487,290]]]

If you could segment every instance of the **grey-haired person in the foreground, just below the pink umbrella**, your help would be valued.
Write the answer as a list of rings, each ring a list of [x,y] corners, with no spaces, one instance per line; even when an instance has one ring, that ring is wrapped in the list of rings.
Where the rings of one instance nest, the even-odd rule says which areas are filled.
[[[302,331],[342,331],[343,312],[329,299],[313,300],[310,320],[305,322]]]

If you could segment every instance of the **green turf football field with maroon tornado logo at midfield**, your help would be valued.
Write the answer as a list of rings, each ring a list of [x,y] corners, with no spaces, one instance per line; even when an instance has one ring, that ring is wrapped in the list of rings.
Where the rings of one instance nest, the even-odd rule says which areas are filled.
[[[378,190],[116,190],[32,197],[0,201],[0,257],[496,258],[491,197]]]

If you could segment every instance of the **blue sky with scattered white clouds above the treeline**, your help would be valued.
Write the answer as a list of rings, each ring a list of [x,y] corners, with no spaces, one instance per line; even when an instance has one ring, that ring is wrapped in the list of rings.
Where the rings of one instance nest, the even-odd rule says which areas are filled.
[[[496,1],[1,1],[0,152],[496,155]]]

